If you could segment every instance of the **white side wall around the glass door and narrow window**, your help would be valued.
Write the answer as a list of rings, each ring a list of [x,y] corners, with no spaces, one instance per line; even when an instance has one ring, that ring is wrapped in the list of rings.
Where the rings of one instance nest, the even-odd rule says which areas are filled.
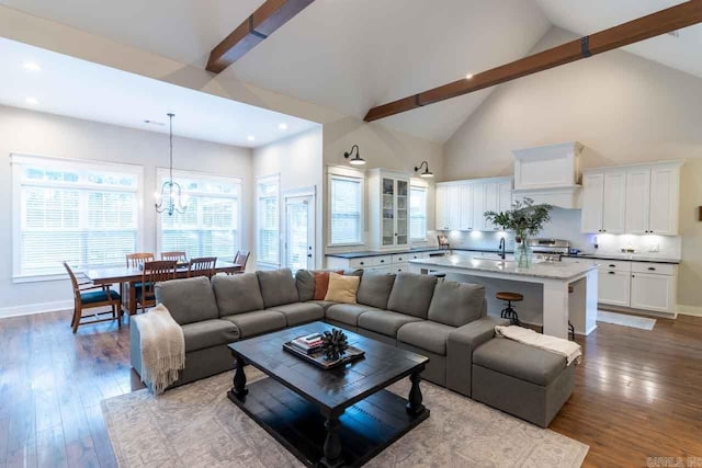
[[[281,194],[297,189],[314,187],[316,192],[316,219],[315,219],[315,262],[321,266],[324,258],[321,226],[322,216],[322,129],[314,128],[305,133],[265,145],[253,150],[253,176],[280,175]],[[253,189],[256,196],[256,187]],[[254,201],[256,203],[256,201]],[[283,213],[284,198],[281,196],[281,209]],[[256,206],[252,206],[252,220],[256,220]],[[283,235],[284,224],[281,216],[281,235]],[[256,229],[256,226],[252,226]],[[254,247],[251,251],[256,260],[256,232],[253,233]],[[281,250],[281,255],[283,252]],[[282,262],[282,258],[281,258]]]

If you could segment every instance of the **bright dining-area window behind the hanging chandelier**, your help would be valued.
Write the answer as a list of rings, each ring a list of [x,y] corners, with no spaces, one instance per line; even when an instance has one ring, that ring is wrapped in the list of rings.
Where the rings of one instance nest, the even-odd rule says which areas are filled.
[[[159,169],[160,185],[168,171]],[[159,251],[183,251],[188,258],[234,259],[240,246],[240,180],[176,171],[173,180],[188,196],[185,213],[159,216]]]

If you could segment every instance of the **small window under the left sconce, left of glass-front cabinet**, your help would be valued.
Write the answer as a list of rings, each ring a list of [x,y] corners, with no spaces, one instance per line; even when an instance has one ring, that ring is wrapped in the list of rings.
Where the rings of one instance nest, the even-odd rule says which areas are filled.
[[[329,176],[329,241],[331,246],[362,243],[363,179]]]

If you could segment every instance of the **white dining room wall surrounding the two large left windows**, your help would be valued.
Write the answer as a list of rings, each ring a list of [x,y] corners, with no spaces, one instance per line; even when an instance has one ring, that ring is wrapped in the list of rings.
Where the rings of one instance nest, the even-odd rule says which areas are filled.
[[[10,153],[111,161],[144,165],[144,249],[156,251],[157,215],[151,194],[156,168],[168,165],[168,135],[0,106],[0,317],[55,308],[71,300],[70,283],[12,282],[12,203]],[[252,156],[248,148],[174,138],[177,169],[236,175],[242,179],[244,248],[250,246]],[[61,306],[65,307],[65,304]]]

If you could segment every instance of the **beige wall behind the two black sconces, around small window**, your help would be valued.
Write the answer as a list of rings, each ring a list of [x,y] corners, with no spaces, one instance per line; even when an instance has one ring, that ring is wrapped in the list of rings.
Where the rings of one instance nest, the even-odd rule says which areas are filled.
[[[333,123],[324,125],[324,164],[349,167],[348,160],[343,158],[344,151],[349,151],[353,145],[359,146],[361,157],[366,161],[361,169],[385,168],[409,175],[415,173],[415,167],[421,161],[429,162],[430,170],[434,173],[434,179],[441,180],[443,147],[437,142],[428,141],[401,132],[388,129],[378,124],[366,124],[353,117],[341,118]],[[327,218],[328,204],[326,203],[326,178],[325,178],[325,218]],[[434,186],[430,182],[428,191],[428,228],[434,227]],[[367,215],[367,209],[366,209]],[[367,239],[367,217],[365,229]],[[324,232],[325,246],[328,241],[328,229]],[[431,240],[431,236],[430,236]],[[433,243],[437,243],[435,240]],[[363,247],[351,249],[327,248],[328,252],[339,252],[348,250],[364,250]]]

